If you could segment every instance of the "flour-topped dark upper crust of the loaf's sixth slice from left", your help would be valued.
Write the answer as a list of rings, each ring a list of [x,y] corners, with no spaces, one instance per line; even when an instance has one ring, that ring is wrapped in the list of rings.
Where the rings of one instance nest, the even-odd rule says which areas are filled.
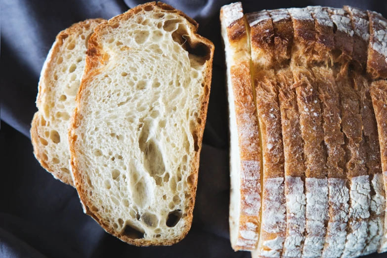
[[[327,7],[327,11],[336,26],[336,31],[334,31],[335,50],[341,51],[334,53],[334,61],[348,62],[352,59],[353,52],[353,30],[349,14],[341,8]]]

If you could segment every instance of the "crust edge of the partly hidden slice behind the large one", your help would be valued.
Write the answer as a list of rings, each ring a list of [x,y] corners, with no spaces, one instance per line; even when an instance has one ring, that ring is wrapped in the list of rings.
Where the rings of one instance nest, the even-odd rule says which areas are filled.
[[[42,165],[42,167],[47,171],[50,172],[56,179],[59,179],[60,181],[69,184],[71,186],[74,186],[73,180],[71,178],[71,175],[69,172],[63,172],[63,171],[58,171],[55,169],[55,166],[48,162],[44,156],[44,150],[45,150],[45,145],[42,144],[41,138],[42,135],[39,133],[39,128],[46,126],[46,122],[43,118],[43,101],[44,101],[44,96],[48,94],[51,91],[51,85],[50,85],[50,75],[52,73],[53,67],[55,67],[56,60],[55,57],[59,51],[61,51],[61,46],[63,44],[63,40],[66,39],[69,35],[77,35],[81,34],[83,32],[83,29],[86,28],[87,26],[90,26],[90,23],[94,23],[94,25],[101,23],[104,21],[103,19],[88,19],[82,22],[78,22],[70,26],[69,28],[61,31],[55,38],[55,42],[52,44],[51,49],[48,52],[47,58],[43,64],[40,80],[39,80],[39,85],[38,85],[38,96],[36,100],[36,106],[38,107],[38,112],[35,113],[34,118],[31,122],[31,129],[30,129],[30,134],[31,134],[31,142],[32,146],[34,148],[34,155],[36,159],[39,161],[39,163]],[[68,165],[67,166],[67,170]]]

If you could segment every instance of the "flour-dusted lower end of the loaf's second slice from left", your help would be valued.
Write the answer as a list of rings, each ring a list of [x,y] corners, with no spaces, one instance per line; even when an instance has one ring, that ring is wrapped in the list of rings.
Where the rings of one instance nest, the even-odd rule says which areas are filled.
[[[258,249],[252,257],[280,257],[286,228],[286,207],[284,178],[267,178],[263,180],[262,221]]]

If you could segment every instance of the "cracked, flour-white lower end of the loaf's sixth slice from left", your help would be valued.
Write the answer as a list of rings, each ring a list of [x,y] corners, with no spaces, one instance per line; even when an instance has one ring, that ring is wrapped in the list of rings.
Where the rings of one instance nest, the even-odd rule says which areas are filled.
[[[360,256],[365,248],[370,216],[370,191],[368,175],[355,176],[350,179],[348,233],[343,258]]]

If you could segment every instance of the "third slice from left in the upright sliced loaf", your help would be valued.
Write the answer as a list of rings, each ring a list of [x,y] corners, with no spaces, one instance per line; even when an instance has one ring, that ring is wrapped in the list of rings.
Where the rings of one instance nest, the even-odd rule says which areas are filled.
[[[305,171],[297,95],[289,67],[293,24],[287,9],[268,11],[274,28],[274,72],[284,145],[286,234],[282,256],[301,257],[305,230]]]

